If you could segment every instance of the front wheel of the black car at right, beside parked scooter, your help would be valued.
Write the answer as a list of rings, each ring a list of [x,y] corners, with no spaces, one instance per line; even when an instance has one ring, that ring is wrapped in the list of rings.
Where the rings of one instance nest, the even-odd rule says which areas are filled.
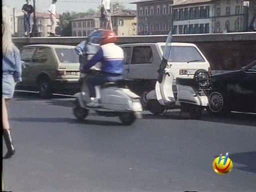
[[[208,97],[208,111],[215,115],[225,115],[230,110],[228,109],[228,103],[226,96],[222,91],[213,91]]]

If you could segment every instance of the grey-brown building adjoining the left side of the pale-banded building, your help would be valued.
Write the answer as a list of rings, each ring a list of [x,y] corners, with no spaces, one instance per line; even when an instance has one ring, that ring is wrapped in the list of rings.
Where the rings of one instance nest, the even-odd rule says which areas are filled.
[[[172,0],[139,0],[137,5],[137,34],[168,34],[171,28]]]

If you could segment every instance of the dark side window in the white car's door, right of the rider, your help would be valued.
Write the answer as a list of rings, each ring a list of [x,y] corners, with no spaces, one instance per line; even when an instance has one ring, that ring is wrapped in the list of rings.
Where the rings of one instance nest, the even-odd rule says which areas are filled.
[[[153,62],[153,52],[150,46],[134,46],[131,64],[143,64]]]

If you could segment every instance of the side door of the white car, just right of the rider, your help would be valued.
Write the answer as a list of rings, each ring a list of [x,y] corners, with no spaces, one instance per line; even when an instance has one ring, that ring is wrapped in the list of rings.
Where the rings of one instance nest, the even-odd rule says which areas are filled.
[[[154,64],[153,55],[153,48],[150,45],[134,46],[128,77],[131,79],[156,79],[158,65]]]

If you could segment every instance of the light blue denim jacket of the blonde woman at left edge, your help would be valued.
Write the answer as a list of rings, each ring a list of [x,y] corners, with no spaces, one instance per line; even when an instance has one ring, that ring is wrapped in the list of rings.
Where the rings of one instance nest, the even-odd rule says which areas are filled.
[[[6,55],[2,55],[2,72],[13,74],[14,80],[21,81],[20,53],[16,46]]]

